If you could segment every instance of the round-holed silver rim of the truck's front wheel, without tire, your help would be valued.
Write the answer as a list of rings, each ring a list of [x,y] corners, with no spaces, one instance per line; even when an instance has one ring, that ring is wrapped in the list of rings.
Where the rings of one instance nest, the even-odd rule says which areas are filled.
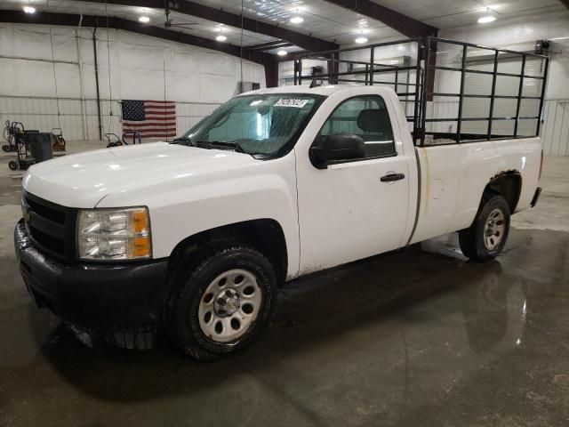
[[[225,271],[202,294],[197,310],[199,326],[212,341],[234,341],[251,329],[261,302],[260,286],[252,272]]]

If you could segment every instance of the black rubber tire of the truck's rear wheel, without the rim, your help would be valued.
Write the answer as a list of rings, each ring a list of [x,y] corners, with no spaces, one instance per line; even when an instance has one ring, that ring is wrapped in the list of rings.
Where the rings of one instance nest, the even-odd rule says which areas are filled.
[[[499,210],[503,215],[504,230],[501,231],[500,241],[495,247],[488,247],[485,243],[485,224],[489,216]],[[462,254],[472,261],[485,262],[493,260],[506,245],[509,235],[509,205],[504,197],[496,194],[485,195],[480,204],[472,225],[459,231],[459,243]]]

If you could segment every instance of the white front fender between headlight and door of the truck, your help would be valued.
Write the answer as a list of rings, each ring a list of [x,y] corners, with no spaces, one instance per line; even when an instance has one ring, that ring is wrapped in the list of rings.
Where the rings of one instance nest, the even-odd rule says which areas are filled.
[[[109,194],[97,207],[130,205],[148,206],[153,258],[170,256],[182,240],[205,230],[236,222],[274,220],[284,233],[287,277],[298,275],[300,242],[291,155],[246,169],[188,176]]]

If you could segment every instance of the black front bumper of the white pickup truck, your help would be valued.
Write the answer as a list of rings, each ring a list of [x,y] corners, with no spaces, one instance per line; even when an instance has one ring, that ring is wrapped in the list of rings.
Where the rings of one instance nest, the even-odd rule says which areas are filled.
[[[152,346],[164,301],[167,259],[60,263],[32,246],[23,219],[14,230],[14,247],[38,307],[82,329],[110,333],[116,345]]]

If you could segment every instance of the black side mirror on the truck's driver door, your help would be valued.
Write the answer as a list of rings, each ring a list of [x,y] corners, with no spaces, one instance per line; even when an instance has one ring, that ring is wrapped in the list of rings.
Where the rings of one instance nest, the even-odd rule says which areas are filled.
[[[365,157],[365,142],[353,133],[335,133],[315,141],[310,147],[310,159],[318,169],[325,169],[333,160]]]

